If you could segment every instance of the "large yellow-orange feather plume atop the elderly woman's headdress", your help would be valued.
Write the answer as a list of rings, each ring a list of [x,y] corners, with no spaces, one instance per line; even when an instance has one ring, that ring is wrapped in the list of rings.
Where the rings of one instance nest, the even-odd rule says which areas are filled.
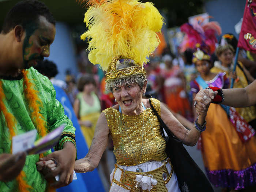
[[[85,2],[85,0],[82,0]],[[124,56],[138,65],[159,45],[163,17],[153,3],[138,0],[87,1],[84,14],[88,31],[81,39],[89,42],[89,60],[107,70],[115,56]]]

